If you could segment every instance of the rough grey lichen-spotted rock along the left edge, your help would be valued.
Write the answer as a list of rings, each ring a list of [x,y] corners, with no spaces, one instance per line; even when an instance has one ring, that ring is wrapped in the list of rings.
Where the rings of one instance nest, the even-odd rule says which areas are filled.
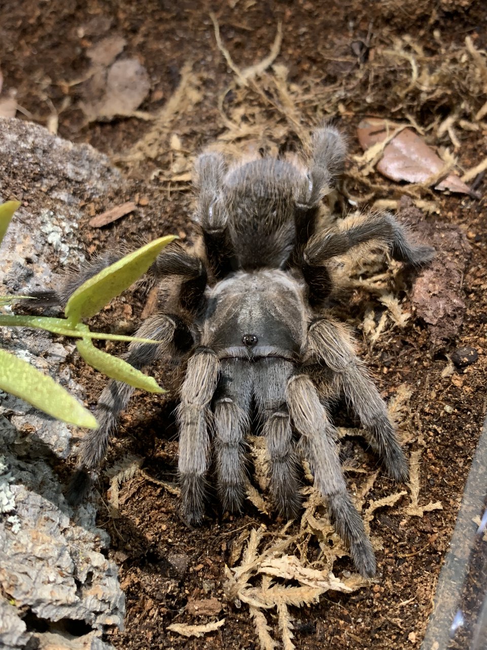
[[[0,249],[0,294],[51,286],[51,268],[84,259],[82,202],[121,185],[108,159],[39,125],[0,119],[0,201],[22,200]],[[8,309],[6,309],[8,311]],[[71,343],[40,330],[0,329],[1,346],[55,376],[73,395]],[[91,504],[73,510],[52,469],[71,428],[0,393],[0,647],[105,650],[106,626],[123,624],[116,565],[103,550]]]

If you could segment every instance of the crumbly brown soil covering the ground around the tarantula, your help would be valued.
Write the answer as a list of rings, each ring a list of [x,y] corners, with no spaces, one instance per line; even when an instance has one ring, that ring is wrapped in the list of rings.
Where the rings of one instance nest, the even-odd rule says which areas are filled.
[[[355,129],[366,115],[399,121],[409,116],[421,127],[434,124],[430,135],[427,134],[429,144],[452,148],[446,132],[438,137],[436,134],[440,118],[447,118],[455,110],[466,110],[460,103],[462,94],[467,97],[469,90],[461,85],[465,80],[458,77],[458,70],[452,70],[449,85],[444,88],[442,79],[436,79],[440,89],[436,94],[408,90],[401,96],[401,83],[410,75],[410,60],[390,59],[387,70],[375,64],[381,51],[393,49],[397,39],[402,38],[404,45],[405,35],[414,42],[409,51],[416,53],[421,66],[429,66],[431,72],[440,59],[445,59],[442,52],[463,47],[466,36],[471,37],[477,50],[484,49],[484,3],[445,0],[433,7],[433,3],[402,0],[349,0],[331,1],[326,3],[326,9],[319,5],[306,0],[233,0],[205,7],[190,0],[91,0],[74,7],[62,0],[44,4],[6,0],[0,13],[3,92],[16,88],[16,99],[25,115],[40,123],[47,123],[49,116],[57,112],[59,135],[74,142],[89,142],[112,156],[127,174],[127,185],[119,196],[106,197],[106,201],[96,204],[86,203],[82,234],[88,252],[171,232],[183,239],[190,235],[192,193],[184,180],[186,167],[178,167],[175,161],[184,162],[188,159],[185,152],[199,151],[225,133],[227,123],[223,114],[236,120],[238,112],[232,103],[242,108],[241,125],[266,120],[262,139],[265,136],[281,150],[295,146],[302,134],[300,129],[333,118],[349,136],[351,153],[359,153]],[[270,82],[269,86],[267,82],[256,83],[255,88],[245,92],[234,83],[234,75],[216,45],[210,11],[218,19],[221,40],[240,70],[268,55],[282,21],[282,44],[276,62],[288,68],[288,82],[302,89],[301,105],[294,103],[292,109],[283,109],[278,101],[282,95],[273,94]],[[167,131],[160,131],[152,155],[147,155],[145,142],[136,149],[142,151],[138,159],[134,157],[133,146],[149,133],[153,121],[129,117],[87,123],[80,107],[91,92],[87,82],[81,81],[89,76],[87,52],[103,38],[114,35],[125,38],[124,54],[138,58],[149,74],[151,89],[139,110],[155,114],[163,109],[181,84],[184,66],[190,64],[197,79],[194,106],[186,101],[184,110],[171,116]],[[482,93],[468,96],[467,103],[471,101],[472,106],[469,115],[462,119],[473,123],[468,118],[486,99]],[[296,116],[299,119],[293,129]],[[177,145],[174,141],[171,145],[174,134],[179,138]],[[458,127],[456,135],[461,146],[455,155],[467,170],[485,156],[485,122],[471,130]],[[238,142],[238,138],[232,142]],[[352,163],[349,168],[353,168]],[[474,182],[476,192],[482,196],[486,187],[484,177],[480,175]],[[377,190],[377,196],[369,198],[368,203],[379,196],[397,198],[403,188],[393,187],[393,183],[377,174],[373,175],[373,183],[382,190]],[[350,192],[353,188],[356,196],[369,191],[361,187],[354,175],[349,177],[348,188]],[[23,198],[21,191],[12,188],[15,198]],[[23,191],[28,192],[28,188]],[[418,229],[432,237],[436,246],[444,246],[450,255],[451,265],[445,263],[443,279],[449,291],[456,291],[455,295],[449,294],[449,300],[458,303],[445,333],[427,317],[419,317],[421,309],[429,313],[424,292],[421,294],[418,287],[414,290],[416,295],[401,292],[404,311],[413,313],[416,302],[418,313],[405,328],[386,329],[373,347],[364,343],[362,356],[385,398],[392,398],[402,384],[411,391],[404,437],[408,452],[418,448],[422,451],[419,504],[441,502],[442,509],[414,516],[406,513],[405,498],[392,508],[378,510],[371,522],[372,536],[382,538],[384,545],[377,552],[377,582],[350,595],[329,591],[319,604],[293,610],[294,643],[299,650],[419,647],[481,431],[487,368],[485,203],[482,198],[439,192],[434,196],[424,192],[421,196],[436,201],[439,213],[424,216],[426,224]],[[134,201],[136,210],[116,224],[99,229],[88,226],[95,214],[125,201]],[[442,225],[437,225],[439,222]],[[451,279],[449,273],[458,273],[458,278]],[[134,298],[130,295],[105,309],[94,325],[106,331],[136,327],[145,296],[141,291],[136,291]],[[366,298],[362,293],[356,293],[355,298],[352,317],[361,317],[368,307],[375,309],[377,318],[381,316],[381,305],[374,298]],[[456,318],[458,314],[460,317]],[[449,357],[457,348],[475,348],[478,358],[465,367],[460,362],[449,367]],[[81,362],[76,363],[80,382],[84,382],[95,403],[104,379]],[[163,384],[170,385],[167,367],[155,369],[154,374]],[[250,503],[241,517],[222,515],[214,502],[208,508],[205,525],[188,530],[178,516],[177,496],[160,484],[175,482],[174,407],[170,398],[161,400],[138,394],[123,415],[118,437],[109,452],[108,467],[124,456],[140,456],[144,458],[144,473],[136,473],[121,485],[115,515],[103,504],[100,508],[99,525],[106,526],[110,533],[110,554],[119,564],[121,584],[127,595],[125,630],[113,631],[108,638],[123,649],[253,649],[258,647],[258,641],[247,608],[236,608],[223,593],[225,564],[229,562],[232,543],[243,528],[264,523],[272,532],[280,530],[284,522],[260,514]],[[354,454],[347,445],[351,443],[344,446],[345,456]],[[356,445],[360,447],[360,441],[354,442],[353,447]],[[375,457],[363,450],[360,454],[364,467],[372,473]],[[68,475],[66,467],[58,469]],[[349,480],[353,484],[355,478]],[[103,499],[108,487],[109,478],[105,476],[99,486]],[[404,486],[398,488],[381,473],[368,499],[378,500],[398,489]],[[352,569],[348,558],[335,567],[338,575]],[[213,617],[198,616],[194,608],[188,607],[192,600],[209,599],[221,603],[221,612]],[[188,639],[167,630],[171,623],[201,624],[223,616],[225,625],[203,638]],[[273,625],[272,615],[268,621]]]

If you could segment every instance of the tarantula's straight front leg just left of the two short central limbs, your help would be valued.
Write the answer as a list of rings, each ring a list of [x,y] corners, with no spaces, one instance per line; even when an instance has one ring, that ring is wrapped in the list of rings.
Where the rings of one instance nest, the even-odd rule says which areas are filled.
[[[198,348],[188,361],[181,387],[179,421],[179,482],[182,516],[191,525],[203,519],[206,471],[209,465],[210,402],[218,381],[219,362],[210,348]]]

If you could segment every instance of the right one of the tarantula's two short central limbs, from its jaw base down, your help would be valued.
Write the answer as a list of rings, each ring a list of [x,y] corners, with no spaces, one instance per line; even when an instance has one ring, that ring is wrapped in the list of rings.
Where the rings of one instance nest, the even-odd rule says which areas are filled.
[[[270,491],[279,512],[293,519],[301,508],[298,463],[286,404],[286,383],[293,364],[284,359],[260,359],[253,364],[254,393],[264,419],[269,454]]]

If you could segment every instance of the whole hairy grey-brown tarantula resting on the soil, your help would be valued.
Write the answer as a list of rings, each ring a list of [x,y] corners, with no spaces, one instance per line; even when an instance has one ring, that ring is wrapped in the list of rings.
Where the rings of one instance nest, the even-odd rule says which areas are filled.
[[[327,312],[334,289],[330,261],[374,242],[393,259],[418,267],[433,250],[412,244],[391,214],[330,218],[318,227],[321,200],[342,170],[342,136],[332,127],[318,129],[311,151],[307,168],[273,158],[229,166],[220,153],[199,155],[194,222],[203,252],[174,243],[159,255],[150,273],[157,279],[171,276],[173,291],[165,311],[145,320],[137,335],[163,343],[132,343],[124,357],[138,369],[168,352],[186,363],[177,420],[181,506],[188,523],[203,519],[212,455],[223,507],[242,508],[245,434],[256,413],[276,508],[285,517],[299,511],[303,456],[356,568],[371,576],[375,556],[347,493],[331,402],[345,398],[393,479],[405,480],[408,465],[351,336]],[[97,259],[66,281],[51,302],[66,302],[113,261],[111,254]],[[112,380],[101,393],[95,413],[101,426],[81,441],[72,498],[84,491],[86,471],[103,460],[132,392]]]

